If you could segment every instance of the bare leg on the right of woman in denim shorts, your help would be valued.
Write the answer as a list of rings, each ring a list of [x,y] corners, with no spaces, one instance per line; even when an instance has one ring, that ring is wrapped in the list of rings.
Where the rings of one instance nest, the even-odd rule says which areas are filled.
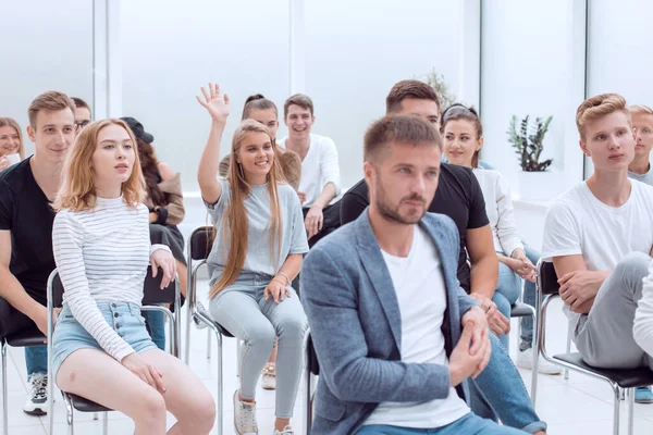
[[[160,349],[140,355],[163,375],[165,407],[177,419],[169,435],[206,435],[215,422],[215,402],[209,390],[190,369]]]

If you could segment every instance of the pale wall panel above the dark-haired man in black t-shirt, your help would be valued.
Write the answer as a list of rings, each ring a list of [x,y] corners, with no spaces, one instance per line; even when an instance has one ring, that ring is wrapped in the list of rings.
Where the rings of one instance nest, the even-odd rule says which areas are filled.
[[[343,186],[362,177],[362,136],[385,112],[402,79],[435,67],[456,90],[460,1],[307,1],[306,94],[316,103],[313,132],[340,152]]]

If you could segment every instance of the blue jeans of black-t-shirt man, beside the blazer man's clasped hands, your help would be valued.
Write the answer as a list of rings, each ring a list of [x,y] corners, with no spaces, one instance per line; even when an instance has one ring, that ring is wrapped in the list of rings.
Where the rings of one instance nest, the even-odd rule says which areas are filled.
[[[521,376],[495,335],[490,334],[492,356],[485,370],[469,380],[469,403],[475,414],[533,434],[545,431],[528,396]],[[467,432],[461,432],[467,433]]]

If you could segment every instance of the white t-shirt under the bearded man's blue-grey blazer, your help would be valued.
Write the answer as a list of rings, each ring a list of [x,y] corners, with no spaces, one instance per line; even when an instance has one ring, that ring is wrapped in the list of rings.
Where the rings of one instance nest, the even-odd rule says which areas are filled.
[[[416,226],[408,257],[382,253],[402,314],[402,361],[448,364],[441,330],[446,309],[446,290],[435,245],[423,229]],[[446,399],[381,402],[364,425],[434,428],[451,424],[469,412],[467,403],[451,387]]]

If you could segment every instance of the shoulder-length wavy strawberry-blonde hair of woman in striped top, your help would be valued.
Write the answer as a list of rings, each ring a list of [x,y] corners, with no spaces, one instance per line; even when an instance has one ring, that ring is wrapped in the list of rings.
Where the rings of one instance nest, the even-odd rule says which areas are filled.
[[[71,211],[90,210],[96,204],[95,176],[91,159],[98,146],[100,130],[109,125],[123,127],[132,139],[134,147],[134,166],[132,175],[122,185],[122,196],[125,203],[136,208],[145,196],[143,172],[138,159],[138,148],[134,134],[124,121],[109,119],[88,124],[75,138],[73,149],[69,151],[63,167],[63,181],[54,204],[54,211],[67,209]]]

